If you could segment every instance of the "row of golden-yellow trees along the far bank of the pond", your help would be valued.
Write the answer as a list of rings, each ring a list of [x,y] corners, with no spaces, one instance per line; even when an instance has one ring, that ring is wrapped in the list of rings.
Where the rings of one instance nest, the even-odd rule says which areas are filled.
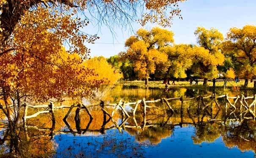
[[[215,28],[198,27],[198,45],[175,44],[173,32],[158,27],[139,29],[126,40],[127,51],[107,59],[124,80],[256,77],[256,27],[230,28],[226,37]]]

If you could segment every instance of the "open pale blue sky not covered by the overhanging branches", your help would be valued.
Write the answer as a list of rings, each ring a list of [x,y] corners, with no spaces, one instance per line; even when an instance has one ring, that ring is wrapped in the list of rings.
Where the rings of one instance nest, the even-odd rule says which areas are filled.
[[[206,29],[214,27],[226,36],[231,27],[256,25],[256,0],[187,0],[180,4],[180,8],[183,20],[176,18],[171,27],[165,28],[173,31],[176,44],[196,44],[194,31],[199,26]],[[156,25],[148,24],[144,28],[151,29],[154,26]],[[132,23],[134,32],[140,27],[136,22]],[[123,43],[129,36],[134,35],[132,29],[117,26],[114,28],[116,37],[113,37],[108,27],[102,26],[99,29],[97,26],[89,25],[86,30],[100,37],[95,44],[86,44],[91,48],[91,56],[110,57],[125,51]]]

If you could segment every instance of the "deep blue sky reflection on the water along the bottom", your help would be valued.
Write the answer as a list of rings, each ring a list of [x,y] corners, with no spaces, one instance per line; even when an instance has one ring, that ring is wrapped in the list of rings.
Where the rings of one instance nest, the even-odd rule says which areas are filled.
[[[228,148],[222,141],[222,137],[212,143],[203,142],[194,145],[192,136],[195,134],[193,126],[175,127],[170,137],[162,139],[157,144],[149,141],[137,142],[134,136],[127,131],[109,130],[103,135],[85,134],[74,136],[73,134],[59,134],[54,137],[58,144],[57,157],[88,157],[88,158],[253,158],[253,151],[242,152],[237,147]]]

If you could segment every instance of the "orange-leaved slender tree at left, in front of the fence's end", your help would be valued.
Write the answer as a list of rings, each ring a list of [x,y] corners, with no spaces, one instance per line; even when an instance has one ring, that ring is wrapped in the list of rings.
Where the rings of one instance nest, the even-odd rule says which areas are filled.
[[[15,50],[0,56],[0,108],[8,119],[12,140],[10,152],[19,151],[17,127],[24,103],[59,99],[63,94],[85,96],[92,87],[103,82],[94,80],[88,83],[86,78],[95,74],[93,70],[80,67],[82,58],[76,54],[80,51],[87,54],[87,48],[82,43],[93,42],[96,36],[80,37],[78,29],[83,24],[71,16],[57,18],[55,15],[61,13],[53,15],[40,7],[33,13],[25,15],[24,21],[17,24],[6,44],[6,47]],[[39,15],[47,16],[47,19]],[[39,16],[39,19],[34,16]],[[55,20],[55,23],[48,20]],[[65,38],[74,38],[68,50],[62,46]]]

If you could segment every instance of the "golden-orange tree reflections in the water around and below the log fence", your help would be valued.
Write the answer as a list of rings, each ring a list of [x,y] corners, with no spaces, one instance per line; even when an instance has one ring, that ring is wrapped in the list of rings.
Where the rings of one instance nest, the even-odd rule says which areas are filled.
[[[178,94],[175,93],[173,95],[176,98],[158,99],[157,103],[142,99],[138,103],[137,111],[134,110],[135,103],[131,103],[132,105],[127,108],[129,109],[129,115],[133,116],[130,118],[129,115],[125,114],[127,111],[121,110],[128,103],[121,102],[121,100],[118,105],[122,107],[110,104],[105,105],[105,107],[103,106],[104,104],[100,104],[100,107],[98,105],[98,107],[88,107],[93,119],[88,115],[88,112],[86,113],[86,108],[82,108],[81,105],[74,107],[66,121],[62,119],[63,114],[66,114],[68,109],[56,109],[54,110],[55,131],[50,131],[52,129],[52,115],[50,113],[40,115],[37,118],[30,118],[27,121],[30,142],[23,141],[25,139],[23,130],[17,131],[20,133],[18,136],[18,140],[20,140],[18,144],[21,145],[20,150],[48,154],[53,150],[54,144],[50,141],[49,137],[53,133],[72,133],[76,135],[90,132],[98,135],[100,133],[105,134],[106,130],[109,129],[118,129],[120,132],[123,129],[128,134],[135,136],[138,142],[148,140],[151,144],[158,144],[163,138],[170,137],[173,134],[175,126],[184,127],[192,125],[195,126],[195,134],[192,137],[195,144],[213,142],[222,135],[223,141],[228,147],[237,145],[241,150],[256,151],[254,147],[256,142],[255,122],[248,121],[246,118],[234,117],[234,115],[239,115],[241,109],[239,105],[236,104],[236,108],[234,108],[229,103],[234,104],[236,97],[229,97],[230,102],[228,103],[228,96],[225,95],[220,97],[198,96],[193,99],[178,97]],[[248,100],[250,101],[252,98]],[[245,102],[245,98],[243,98],[242,102]],[[225,105],[228,105],[228,107],[225,108]],[[170,106],[173,108],[172,112],[168,108]],[[113,113],[113,110],[116,110],[116,112]],[[37,112],[37,110],[30,111],[29,115],[32,115],[34,112]],[[231,115],[232,112],[234,115]],[[234,119],[236,122],[231,122]],[[8,135],[8,130],[5,133]],[[0,142],[6,141],[8,144],[10,143],[9,140],[10,137],[7,136],[0,139]],[[40,145],[40,147],[33,146],[34,143]],[[47,148],[50,150],[47,150]]]

